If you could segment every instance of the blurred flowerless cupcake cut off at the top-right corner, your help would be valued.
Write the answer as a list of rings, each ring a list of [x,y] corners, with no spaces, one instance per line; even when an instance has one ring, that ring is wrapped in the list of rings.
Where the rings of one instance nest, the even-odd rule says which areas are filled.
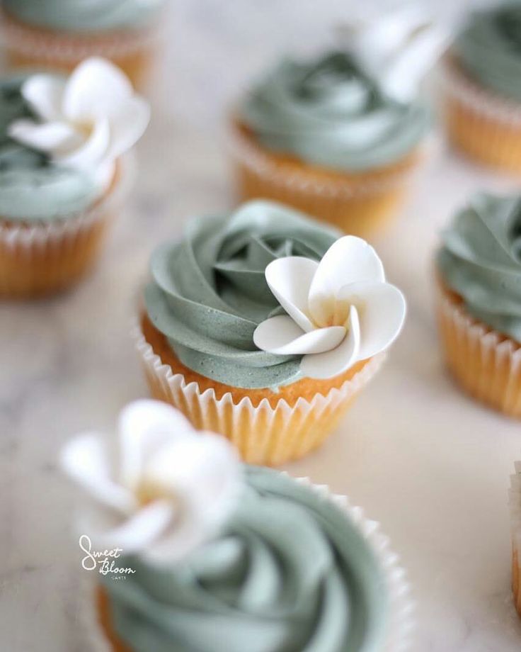
[[[521,173],[521,4],[476,11],[445,62],[450,140],[476,162]]]

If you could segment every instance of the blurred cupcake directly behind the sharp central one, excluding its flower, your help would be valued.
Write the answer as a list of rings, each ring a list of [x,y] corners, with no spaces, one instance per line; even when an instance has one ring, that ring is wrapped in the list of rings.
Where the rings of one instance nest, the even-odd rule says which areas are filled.
[[[401,203],[429,116],[349,52],[284,60],[232,116],[239,196],[269,198],[367,237]]]

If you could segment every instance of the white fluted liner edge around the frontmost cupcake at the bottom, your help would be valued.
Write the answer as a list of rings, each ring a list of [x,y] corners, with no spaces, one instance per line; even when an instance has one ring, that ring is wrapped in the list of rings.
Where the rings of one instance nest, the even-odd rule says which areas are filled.
[[[346,518],[365,539],[384,576],[382,590],[389,596],[385,643],[380,652],[407,652],[411,649],[413,638],[415,605],[406,571],[399,565],[399,557],[391,550],[389,537],[382,533],[377,521],[367,519],[362,507],[351,505],[347,496],[333,494],[328,485],[316,485],[309,478],[295,479],[318,493],[324,500],[331,500],[345,513]],[[96,584],[91,580],[90,573],[84,573],[82,589],[81,625],[88,648],[92,652],[113,652],[113,647],[105,638],[99,623],[96,609]]]

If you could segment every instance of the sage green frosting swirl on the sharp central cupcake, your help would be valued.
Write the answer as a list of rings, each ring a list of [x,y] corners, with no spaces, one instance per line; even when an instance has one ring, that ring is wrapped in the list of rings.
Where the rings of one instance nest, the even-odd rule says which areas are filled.
[[[147,314],[193,371],[241,388],[297,381],[302,356],[257,349],[253,331],[283,314],[264,271],[275,258],[320,260],[340,233],[302,213],[251,201],[231,215],[193,218],[180,242],[156,249]]]

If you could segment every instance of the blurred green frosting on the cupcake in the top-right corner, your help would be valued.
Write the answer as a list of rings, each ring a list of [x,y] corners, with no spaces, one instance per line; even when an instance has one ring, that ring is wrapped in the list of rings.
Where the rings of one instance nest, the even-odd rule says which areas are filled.
[[[479,84],[521,101],[521,2],[472,13],[454,52]]]

